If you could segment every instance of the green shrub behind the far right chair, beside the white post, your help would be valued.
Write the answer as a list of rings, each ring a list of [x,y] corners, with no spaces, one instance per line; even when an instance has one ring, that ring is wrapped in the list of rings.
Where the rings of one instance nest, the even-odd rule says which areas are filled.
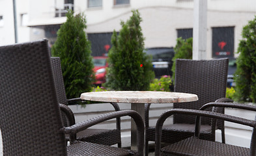
[[[188,38],[187,40],[181,37],[178,38],[174,51],[175,56],[173,57],[173,66],[171,67],[173,81],[175,80],[176,59],[192,59],[193,57],[193,38]]]

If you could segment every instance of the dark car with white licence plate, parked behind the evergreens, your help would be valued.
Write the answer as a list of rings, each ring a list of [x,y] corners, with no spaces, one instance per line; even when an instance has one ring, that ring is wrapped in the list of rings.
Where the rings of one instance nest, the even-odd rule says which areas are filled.
[[[156,78],[162,75],[171,76],[171,66],[175,55],[173,47],[152,47],[145,49],[145,53],[152,55],[153,70]]]

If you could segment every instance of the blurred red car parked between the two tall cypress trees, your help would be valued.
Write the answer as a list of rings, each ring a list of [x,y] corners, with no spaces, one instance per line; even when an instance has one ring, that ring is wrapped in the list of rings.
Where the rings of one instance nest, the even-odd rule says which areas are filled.
[[[94,85],[102,85],[102,83],[106,82],[107,57],[93,57],[92,60],[96,77]]]

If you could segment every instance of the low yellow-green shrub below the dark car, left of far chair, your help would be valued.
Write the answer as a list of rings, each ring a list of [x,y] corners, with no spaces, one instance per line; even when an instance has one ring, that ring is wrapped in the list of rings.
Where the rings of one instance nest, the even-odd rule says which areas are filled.
[[[170,86],[171,86],[171,77],[167,75],[163,75],[160,79],[154,79],[154,81],[150,83],[150,90],[169,92]]]

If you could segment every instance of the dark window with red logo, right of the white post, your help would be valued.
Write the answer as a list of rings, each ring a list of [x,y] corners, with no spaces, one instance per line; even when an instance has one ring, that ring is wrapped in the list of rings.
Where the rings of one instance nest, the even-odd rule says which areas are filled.
[[[212,57],[234,57],[234,28],[212,28]]]

